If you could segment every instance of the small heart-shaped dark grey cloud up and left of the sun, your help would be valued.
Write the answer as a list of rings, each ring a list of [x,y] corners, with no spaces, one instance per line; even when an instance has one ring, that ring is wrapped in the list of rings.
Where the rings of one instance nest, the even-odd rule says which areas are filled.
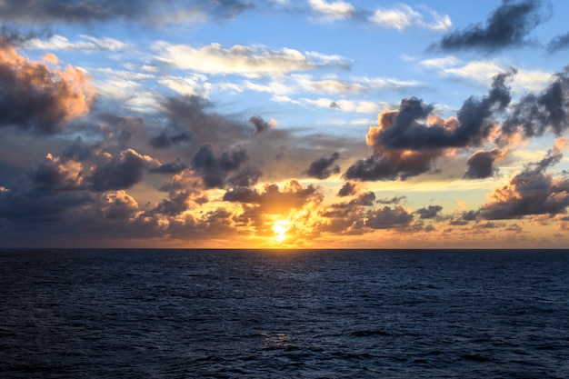
[[[195,153],[191,165],[206,188],[223,188],[229,173],[237,171],[248,159],[245,150],[225,151],[216,157],[213,146],[205,144]]]

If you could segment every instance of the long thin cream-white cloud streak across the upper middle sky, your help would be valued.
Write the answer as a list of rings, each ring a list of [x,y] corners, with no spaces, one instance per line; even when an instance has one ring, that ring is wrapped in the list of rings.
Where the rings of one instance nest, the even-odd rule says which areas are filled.
[[[153,46],[157,58],[179,69],[214,75],[261,77],[284,75],[294,71],[334,67],[349,69],[351,63],[338,55],[322,55],[291,48],[280,50],[260,45],[224,47],[210,44],[202,47],[158,42]]]

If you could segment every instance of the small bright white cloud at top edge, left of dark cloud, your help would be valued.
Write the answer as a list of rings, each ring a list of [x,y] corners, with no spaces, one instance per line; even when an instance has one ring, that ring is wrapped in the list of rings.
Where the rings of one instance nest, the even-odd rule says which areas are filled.
[[[405,4],[394,5],[391,8],[378,8],[374,15],[369,17],[369,21],[400,31],[414,26],[435,31],[444,31],[451,27],[451,18],[448,15],[438,15],[426,6],[424,10],[431,16],[430,22],[424,21],[424,15]]]

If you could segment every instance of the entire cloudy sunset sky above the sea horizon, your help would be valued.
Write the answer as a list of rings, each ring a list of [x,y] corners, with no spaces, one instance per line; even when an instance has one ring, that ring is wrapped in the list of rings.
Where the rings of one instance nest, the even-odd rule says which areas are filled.
[[[0,246],[566,248],[564,0],[0,0]]]

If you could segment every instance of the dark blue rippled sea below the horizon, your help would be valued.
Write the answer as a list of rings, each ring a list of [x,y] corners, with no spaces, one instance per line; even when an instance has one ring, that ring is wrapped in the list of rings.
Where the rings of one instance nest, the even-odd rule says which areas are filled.
[[[569,252],[0,251],[2,378],[567,378]]]

